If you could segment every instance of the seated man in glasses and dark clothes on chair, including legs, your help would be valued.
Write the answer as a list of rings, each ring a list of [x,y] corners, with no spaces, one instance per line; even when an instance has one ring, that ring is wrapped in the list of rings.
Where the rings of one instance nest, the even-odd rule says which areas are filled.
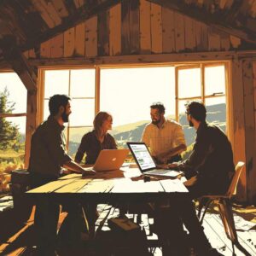
[[[189,230],[190,238],[198,255],[221,255],[207,241],[196,216],[192,199],[201,195],[226,192],[230,178],[235,172],[233,153],[224,132],[215,125],[207,124],[207,110],[201,102],[190,102],[186,105],[186,113],[189,125],[194,127],[197,132],[195,145],[188,160],[169,164],[168,167],[183,171],[183,176],[188,179],[184,184],[189,189],[189,196],[172,201],[173,209],[175,208],[177,211],[170,208],[170,213],[177,214],[177,218],[174,218],[176,224],[178,218],[182,219],[183,224]],[[173,223],[173,219],[168,220],[163,216],[163,214],[160,215],[160,218],[156,220],[162,226],[168,222],[170,225]],[[182,224],[179,225],[182,227]]]

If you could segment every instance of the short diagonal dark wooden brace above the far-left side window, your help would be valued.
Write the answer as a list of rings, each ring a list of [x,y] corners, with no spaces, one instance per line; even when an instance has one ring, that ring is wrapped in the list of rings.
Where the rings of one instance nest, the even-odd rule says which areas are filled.
[[[3,57],[9,62],[15,73],[18,74],[27,90],[37,90],[37,74],[30,67],[26,57],[20,52],[15,38],[5,36],[0,40],[0,48],[3,49]]]

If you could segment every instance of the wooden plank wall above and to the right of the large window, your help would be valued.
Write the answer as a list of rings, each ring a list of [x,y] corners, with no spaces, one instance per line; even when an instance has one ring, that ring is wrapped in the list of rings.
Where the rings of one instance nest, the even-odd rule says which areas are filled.
[[[235,163],[246,162],[237,198],[255,203],[256,61],[251,54],[241,56],[234,51],[243,44],[239,38],[172,10],[131,0],[84,20],[25,55],[32,65],[230,61],[230,138]]]

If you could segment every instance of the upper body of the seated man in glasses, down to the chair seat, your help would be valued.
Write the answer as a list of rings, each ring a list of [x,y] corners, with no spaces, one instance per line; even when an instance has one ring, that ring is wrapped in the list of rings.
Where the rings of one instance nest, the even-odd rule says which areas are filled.
[[[189,125],[197,134],[195,145],[188,160],[169,167],[183,171],[192,198],[224,194],[235,172],[229,139],[216,125],[207,124],[207,110],[201,102],[190,102],[186,108]]]

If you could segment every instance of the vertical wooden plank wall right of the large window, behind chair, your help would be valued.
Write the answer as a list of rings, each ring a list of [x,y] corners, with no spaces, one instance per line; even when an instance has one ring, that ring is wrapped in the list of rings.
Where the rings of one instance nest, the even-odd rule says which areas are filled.
[[[256,202],[256,61],[234,59],[231,63],[231,117],[234,161],[246,163],[238,184],[238,201]]]

